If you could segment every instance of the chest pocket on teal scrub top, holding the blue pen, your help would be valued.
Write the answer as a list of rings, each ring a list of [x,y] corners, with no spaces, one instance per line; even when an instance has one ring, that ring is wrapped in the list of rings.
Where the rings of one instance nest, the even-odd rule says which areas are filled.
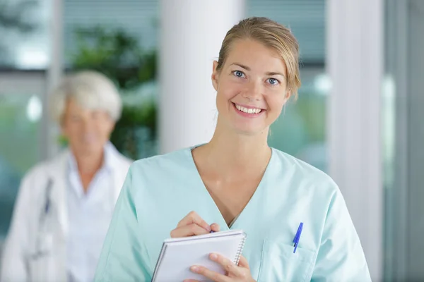
[[[281,240],[264,240],[258,282],[310,281],[315,252]]]

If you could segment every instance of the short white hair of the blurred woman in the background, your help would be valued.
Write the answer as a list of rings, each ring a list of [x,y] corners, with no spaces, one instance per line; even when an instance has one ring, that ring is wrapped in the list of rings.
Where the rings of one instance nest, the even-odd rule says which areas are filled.
[[[66,75],[51,95],[52,117],[58,123],[61,123],[69,99],[75,99],[85,109],[105,110],[113,121],[121,117],[122,101],[117,87],[101,73],[81,71]]]

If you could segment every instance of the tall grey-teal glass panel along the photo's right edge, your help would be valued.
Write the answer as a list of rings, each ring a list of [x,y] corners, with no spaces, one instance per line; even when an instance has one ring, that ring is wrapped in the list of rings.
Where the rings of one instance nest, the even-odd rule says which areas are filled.
[[[424,281],[424,1],[384,3],[384,280]]]

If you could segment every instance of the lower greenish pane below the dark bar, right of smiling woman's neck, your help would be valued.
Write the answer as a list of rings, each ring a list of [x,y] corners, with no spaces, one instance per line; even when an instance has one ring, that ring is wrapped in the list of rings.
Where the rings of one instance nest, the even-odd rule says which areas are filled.
[[[271,125],[269,145],[326,171],[326,97],[329,79],[322,68],[303,68],[298,100],[290,99]]]

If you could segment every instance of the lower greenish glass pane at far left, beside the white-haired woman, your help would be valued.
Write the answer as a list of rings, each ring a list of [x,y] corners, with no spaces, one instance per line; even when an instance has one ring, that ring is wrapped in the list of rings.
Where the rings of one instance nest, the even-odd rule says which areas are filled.
[[[20,178],[40,160],[41,116],[37,94],[0,92],[0,241],[8,231]]]

